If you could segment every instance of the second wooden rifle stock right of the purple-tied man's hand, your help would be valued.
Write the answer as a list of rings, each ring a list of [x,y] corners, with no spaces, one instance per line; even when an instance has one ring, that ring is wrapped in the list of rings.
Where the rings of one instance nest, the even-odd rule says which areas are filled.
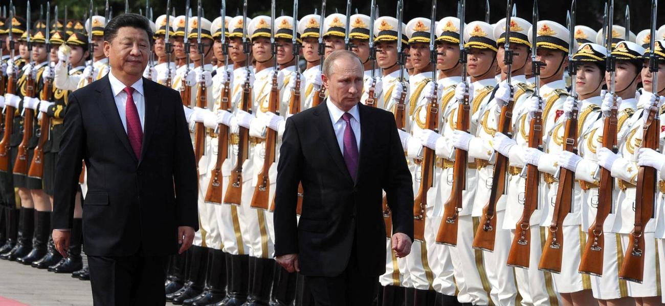
[[[458,105],[457,130],[469,131],[471,125],[471,115],[469,111],[469,95],[464,95],[464,99]],[[469,152],[456,148],[455,164],[453,166],[453,188],[448,201],[444,204],[444,217],[441,219],[439,231],[436,234],[436,243],[449,246],[457,245],[459,213],[462,211],[462,193],[466,185],[467,160]]]

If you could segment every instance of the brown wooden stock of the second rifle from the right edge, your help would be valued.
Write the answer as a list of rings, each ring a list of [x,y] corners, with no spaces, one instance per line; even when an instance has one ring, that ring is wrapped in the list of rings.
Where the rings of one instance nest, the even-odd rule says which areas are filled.
[[[602,128],[602,146],[616,152],[616,133],[618,121],[616,119],[617,111],[612,109],[610,115],[604,118],[604,127]],[[614,178],[610,170],[600,167],[600,181],[598,189],[598,205],[596,219],[593,221],[587,234],[587,244],[582,251],[582,260],[579,266],[579,272],[602,276],[602,258],[605,248],[605,236],[602,227],[605,219],[612,211],[612,197],[614,195]]]

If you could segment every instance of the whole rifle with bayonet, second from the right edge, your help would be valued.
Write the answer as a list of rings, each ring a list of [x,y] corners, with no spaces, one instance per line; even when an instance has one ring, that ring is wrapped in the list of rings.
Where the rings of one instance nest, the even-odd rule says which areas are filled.
[[[606,19],[604,23],[608,26],[607,28],[611,29],[614,18],[614,0],[609,1],[610,9],[607,9],[607,3],[605,3]],[[605,28],[603,28],[603,30],[604,29]],[[610,86],[608,89],[614,97],[614,103],[610,109],[610,115],[605,116],[603,119],[604,126],[602,127],[602,146],[616,153],[618,152],[616,141],[616,133],[618,132],[618,120],[616,119],[618,115],[618,105],[616,103],[616,94],[614,92],[616,59],[614,56],[612,56],[612,30],[604,30],[603,33],[605,34],[604,43],[607,48],[606,71],[610,73]],[[610,170],[600,166],[598,170],[596,170],[596,174],[600,177],[596,219],[593,221],[591,227],[589,227],[589,235],[587,237],[587,244],[585,245],[585,249],[582,252],[582,260],[580,262],[579,272],[595,276],[602,276],[602,258],[605,247],[605,236],[603,234],[602,228],[605,223],[605,219],[607,219],[607,216],[612,211],[612,203],[614,202],[614,178],[612,178]]]

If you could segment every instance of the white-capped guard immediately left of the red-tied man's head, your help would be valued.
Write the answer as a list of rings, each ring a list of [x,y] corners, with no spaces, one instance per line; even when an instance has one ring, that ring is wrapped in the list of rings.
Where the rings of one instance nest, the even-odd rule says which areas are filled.
[[[92,24],[90,23],[92,19]],[[92,43],[94,50],[92,50],[92,63],[83,70],[83,76],[78,87],[88,85],[89,80],[96,81],[106,76],[109,70],[108,58],[104,54],[104,26],[106,26],[106,19],[102,16],[92,16],[85,22],[86,32],[92,31]]]

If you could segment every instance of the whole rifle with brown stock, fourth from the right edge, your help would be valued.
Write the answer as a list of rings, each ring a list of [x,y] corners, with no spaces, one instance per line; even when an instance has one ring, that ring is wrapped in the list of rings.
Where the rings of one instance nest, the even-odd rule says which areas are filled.
[[[537,25],[538,25],[538,1],[536,0],[533,3],[533,30],[531,34],[533,35],[533,53],[531,54],[532,70],[533,75],[535,76],[535,89],[534,95],[539,97],[540,104],[542,105],[543,101],[540,97],[540,68],[544,66],[543,62],[539,62],[536,59],[536,43],[537,43]],[[542,107],[539,107],[542,109]],[[543,111],[536,111],[531,118],[531,125],[529,127],[529,148],[537,148],[538,150],[543,150]],[[538,171],[537,166],[527,164],[524,169],[526,170],[526,182],[524,190],[524,209],[522,211],[522,217],[517,221],[515,225],[515,238],[513,239],[513,244],[510,246],[510,252],[508,254],[508,266],[516,266],[521,268],[529,268],[529,253],[531,246],[531,230],[530,230],[530,219],[533,211],[538,206],[538,186],[540,183],[540,172]]]

